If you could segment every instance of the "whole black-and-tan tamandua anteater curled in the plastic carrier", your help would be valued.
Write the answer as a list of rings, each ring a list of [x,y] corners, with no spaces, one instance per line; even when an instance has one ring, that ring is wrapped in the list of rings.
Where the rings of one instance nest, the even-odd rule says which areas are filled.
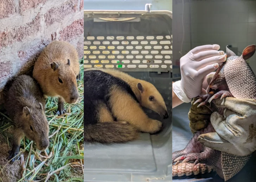
[[[163,124],[142,107],[164,119],[168,113],[155,86],[113,69],[84,71],[84,138],[87,142],[121,143],[135,140],[138,131],[155,133]]]

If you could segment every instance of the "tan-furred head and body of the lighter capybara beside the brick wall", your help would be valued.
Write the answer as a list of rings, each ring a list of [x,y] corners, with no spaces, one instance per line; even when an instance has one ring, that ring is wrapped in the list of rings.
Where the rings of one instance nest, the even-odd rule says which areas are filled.
[[[70,59],[70,66],[67,65]],[[59,68],[54,71],[51,63],[56,62]],[[73,92],[77,92],[76,77],[79,74],[79,62],[76,49],[68,42],[53,41],[41,52],[34,69],[33,77],[40,84],[43,93],[47,96],[61,96],[66,102],[76,103],[71,100]],[[60,78],[63,83],[58,81]]]

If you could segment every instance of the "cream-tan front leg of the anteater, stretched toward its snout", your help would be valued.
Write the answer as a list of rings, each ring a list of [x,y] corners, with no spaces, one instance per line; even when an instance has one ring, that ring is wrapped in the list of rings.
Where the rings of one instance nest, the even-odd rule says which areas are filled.
[[[127,121],[142,132],[155,133],[161,130],[163,124],[149,118],[128,93],[118,89],[112,90],[109,102],[117,121]]]

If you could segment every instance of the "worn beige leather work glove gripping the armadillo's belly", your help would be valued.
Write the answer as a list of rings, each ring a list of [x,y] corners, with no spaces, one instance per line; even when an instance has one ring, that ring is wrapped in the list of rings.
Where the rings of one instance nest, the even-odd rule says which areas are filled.
[[[198,137],[206,147],[218,151],[248,155],[256,150],[256,100],[226,97],[215,100],[218,108],[224,109],[224,117],[213,112],[210,121],[215,133]]]

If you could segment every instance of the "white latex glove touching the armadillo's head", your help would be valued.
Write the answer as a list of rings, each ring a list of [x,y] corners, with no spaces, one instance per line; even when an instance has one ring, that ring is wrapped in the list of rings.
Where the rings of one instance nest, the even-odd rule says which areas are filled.
[[[204,77],[215,71],[219,63],[226,61],[224,51],[219,45],[202,45],[189,51],[180,58],[181,80],[173,83],[173,92],[185,102],[205,93],[202,88]]]

